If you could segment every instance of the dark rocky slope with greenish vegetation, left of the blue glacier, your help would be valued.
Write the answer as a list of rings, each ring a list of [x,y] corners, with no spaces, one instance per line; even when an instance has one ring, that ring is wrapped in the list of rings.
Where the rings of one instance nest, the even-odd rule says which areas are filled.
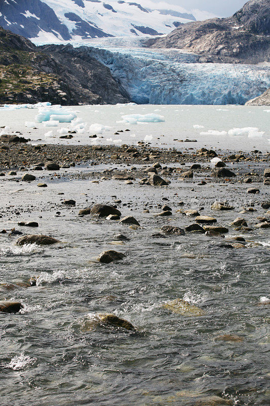
[[[116,104],[128,94],[94,58],[50,53],[0,27],[0,103]]]

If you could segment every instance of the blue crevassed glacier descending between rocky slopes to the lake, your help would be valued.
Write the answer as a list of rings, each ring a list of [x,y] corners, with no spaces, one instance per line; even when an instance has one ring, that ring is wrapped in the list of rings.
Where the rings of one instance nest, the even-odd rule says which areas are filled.
[[[269,63],[201,63],[200,55],[178,49],[120,43],[115,38],[73,42],[75,49],[66,43],[65,52],[83,52],[105,64],[136,104],[244,105],[270,87]]]

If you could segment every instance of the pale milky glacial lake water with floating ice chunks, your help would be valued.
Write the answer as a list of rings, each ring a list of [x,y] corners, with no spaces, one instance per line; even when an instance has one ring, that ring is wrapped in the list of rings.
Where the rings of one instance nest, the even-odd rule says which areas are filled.
[[[138,141],[150,142],[152,146],[161,148],[186,147],[214,147],[221,150],[252,151],[258,149],[262,152],[269,150],[270,140],[270,108],[267,106],[178,106],[178,105],[115,105],[115,106],[69,106],[78,118],[85,124],[81,133],[72,134],[70,140],[59,139],[67,134],[60,133],[61,128],[72,130],[70,124],[63,123],[57,127],[44,127],[42,123],[35,123],[37,129],[27,128],[25,122],[34,122],[37,109],[1,110],[0,122],[2,126],[10,127],[10,131],[21,131],[26,138],[35,143],[49,144],[81,144],[107,145],[107,144],[137,144]],[[154,113],[164,117],[159,123],[118,123],[123,121],[122,116],[131,114]],[[97,133],[97,138],[89,136],[95,132],[89,131],[92,124],[101,124],[110,127],[103,133]],[[200,126],[201,128],[194,128]],[[257,133],[248,136],[230,136],[228,131],[234,128],[257,128]],[[129,129],[130,131],[125,131]],[[123,130],[114,134],[117,130]],[[51,136],[45,136],[52,131]],[[80,130],[81,131],[81,130]],[[209,133],[209,131],[213,131]],[[2,133],[9,132],[2,129]],[[206,134],[201,134],[201,132]],[[39,141],[37,141],[39,140]],[[197,143],[182,143],[185,140],[197,140]]]

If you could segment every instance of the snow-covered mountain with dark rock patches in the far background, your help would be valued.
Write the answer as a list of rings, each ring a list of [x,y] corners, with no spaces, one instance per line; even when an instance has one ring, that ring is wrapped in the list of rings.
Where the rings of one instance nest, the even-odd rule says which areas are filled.
[[[194,21],[188,13],[149,10],[119,0],[3,0],[0,25],[31,40],[48,42],[168,34]]]

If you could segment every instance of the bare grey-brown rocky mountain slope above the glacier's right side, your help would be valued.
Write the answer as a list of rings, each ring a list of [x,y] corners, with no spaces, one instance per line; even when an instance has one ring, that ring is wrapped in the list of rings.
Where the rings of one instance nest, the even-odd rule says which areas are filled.
[[[250,0],[228,18],[189,22],[167,37],[150,39],[153,48],[181,48],[204,61],[258,63],[270,61],[270,2]]]

